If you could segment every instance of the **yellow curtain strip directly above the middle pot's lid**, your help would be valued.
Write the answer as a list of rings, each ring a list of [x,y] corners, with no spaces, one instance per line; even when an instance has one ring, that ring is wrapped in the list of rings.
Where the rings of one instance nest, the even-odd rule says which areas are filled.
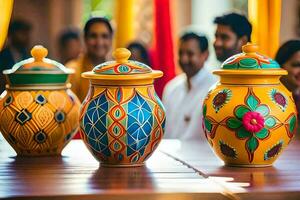
[[[134,0],[116,0],[115,48],[125,47],[134,39]]]

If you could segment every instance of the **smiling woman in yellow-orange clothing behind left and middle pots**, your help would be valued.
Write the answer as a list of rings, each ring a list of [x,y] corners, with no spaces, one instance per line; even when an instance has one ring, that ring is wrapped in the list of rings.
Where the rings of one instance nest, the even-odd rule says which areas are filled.
[[[93,67],[106,61],[112,47],[112,36],[113,29],[106,18],[91,18],[84,26],[86,52],[66,64],[76,72],[71,75],[70,82],[72,90],[81,101],[84,100],[89,89],[89,80],[81,78],[81,73],[91,71]]]

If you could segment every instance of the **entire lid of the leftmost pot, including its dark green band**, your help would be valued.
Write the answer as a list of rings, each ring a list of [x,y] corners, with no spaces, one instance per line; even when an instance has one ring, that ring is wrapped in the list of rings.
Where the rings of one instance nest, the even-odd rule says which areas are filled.
[[[32,58],[16,63],[11,69],[4,70],[9,86],[64,85],[68,75],[74,73],[61,63],[46,58],[48,50],[34,46]]]

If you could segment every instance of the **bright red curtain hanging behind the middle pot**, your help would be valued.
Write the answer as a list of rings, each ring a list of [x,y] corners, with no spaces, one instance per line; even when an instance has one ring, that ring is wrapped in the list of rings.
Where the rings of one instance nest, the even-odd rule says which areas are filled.
[[[153,69],[164,72],[164,76],[155,81],[156,92],[161,97],[164,86],[175,76],[170,0],[154,0],[154,46],[152,57]]]

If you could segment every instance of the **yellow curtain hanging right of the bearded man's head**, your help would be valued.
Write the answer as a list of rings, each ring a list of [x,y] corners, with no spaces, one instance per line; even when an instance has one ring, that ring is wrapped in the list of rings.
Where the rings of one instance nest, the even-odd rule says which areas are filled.
[[[274,57],[279,47],[281,0],[248,0],[252,42],[262,54]]]

